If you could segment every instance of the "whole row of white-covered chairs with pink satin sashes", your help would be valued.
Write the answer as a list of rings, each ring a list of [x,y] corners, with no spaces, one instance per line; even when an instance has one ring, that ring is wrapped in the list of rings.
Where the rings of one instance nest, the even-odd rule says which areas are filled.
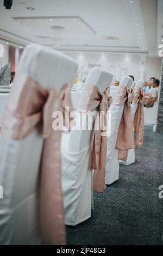
[[[111,103],[113,75],[100,68],[86,79],[71,131],[52,129],[53,112],[72,109],[76,72],[77,63],[58,51],[36,44],[23,51],[1,121],[1,244],[64,245],[65,224],[91,217],[93,189],[104,192],[118,179],[119,159],[134,154],[133,125],[142,139],[143,81],[124,77]],[[104,136],[93,128],[101,111]],[[92,129],[84,129],[87,115],[73,129],[83,112],[95,112]]]

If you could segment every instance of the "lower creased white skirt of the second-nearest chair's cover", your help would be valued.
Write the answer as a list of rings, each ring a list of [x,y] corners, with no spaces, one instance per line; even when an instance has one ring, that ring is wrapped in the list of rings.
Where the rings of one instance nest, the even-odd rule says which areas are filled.
[[[67,225],[77,225],[91,217],[90,153],[91,147],[79,152],[61,151],[62,191]]]

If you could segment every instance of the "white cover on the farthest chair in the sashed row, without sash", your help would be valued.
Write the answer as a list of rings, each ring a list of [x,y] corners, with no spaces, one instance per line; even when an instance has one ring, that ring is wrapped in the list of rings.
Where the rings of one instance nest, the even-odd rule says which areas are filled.
[[[136,88],[141,88],[142,89],[143,88],[143,83],[144,83],[143,80],[137,81],[135,83],[134,90]],[[136,109],[137,109],[137,103],[136,104],[131,104],[131,117],[132,117],[133,124],[134,124]],[[130,163],[135,163],[135,149],[129,149],[128,150],[128,155],[127,155],[127,160],[126,161],[121,161],[120,160],[119,162],[120,162],[120,164],[125,164],[125,165],[128,165]]]

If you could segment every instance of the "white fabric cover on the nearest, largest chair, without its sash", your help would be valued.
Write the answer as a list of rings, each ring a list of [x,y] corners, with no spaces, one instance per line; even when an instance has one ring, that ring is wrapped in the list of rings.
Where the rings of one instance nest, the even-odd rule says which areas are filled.
[[[47,90],[55,87],[59,91],[65,83],[73,83],[77,64],[59,51],[31,44],[23,51],[18,72],[33,78]],[[21,141],[1,136],[0,184],[4,188],[4,198],[0,200],[1,245],[41,242],[37,230],[37,191],[42,145],[38,130]]]

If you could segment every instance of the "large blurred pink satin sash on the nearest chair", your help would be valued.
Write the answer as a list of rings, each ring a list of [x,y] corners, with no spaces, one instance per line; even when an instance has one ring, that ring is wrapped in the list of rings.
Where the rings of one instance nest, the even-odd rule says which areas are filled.
[[[42,125],[45,139],[41,162],[40,227],[43,242],[65,245],[64,208],[61,190],[61,131],[52,129],[52,113],[72,109],[70,87],[49,92],[30,77],[18,74],[2,120],[2,135],[20,140]]]

